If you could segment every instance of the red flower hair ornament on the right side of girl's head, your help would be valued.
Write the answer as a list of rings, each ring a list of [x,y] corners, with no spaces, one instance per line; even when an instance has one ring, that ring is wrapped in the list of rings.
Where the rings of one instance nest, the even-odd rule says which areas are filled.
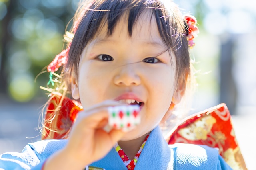
[[[184,21],[188,26],[188,46],[193,47],[195,45],[194,38],[199,33],[199,29],[196,26],[197,24],[196,18],[192,15],[187,14],[187,15],[184,15]]]

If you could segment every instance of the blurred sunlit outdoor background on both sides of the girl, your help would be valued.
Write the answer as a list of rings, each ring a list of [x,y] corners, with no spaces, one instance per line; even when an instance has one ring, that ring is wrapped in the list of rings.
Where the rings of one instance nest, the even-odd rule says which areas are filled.
[[[48,73],[35,78],[62,50],[78,1],[0,0],[0,154],[20,152],[26,143],[40,139],[37,120],[47,96],[39,86],[46,85]],[[174,2],[183,13],[196,16],[200,29],[191,50],[198,83],[191,113],[226,103],[246,164],[254,169],[256,3]]]

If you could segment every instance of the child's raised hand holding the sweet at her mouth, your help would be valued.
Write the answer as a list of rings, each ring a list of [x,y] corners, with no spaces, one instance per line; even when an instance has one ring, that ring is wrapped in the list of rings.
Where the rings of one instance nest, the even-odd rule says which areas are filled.
[[[63,166],[66,164],[64,169],[68,169],[69,164],[72,164],[71,168],[74,170],[74,166],[81,169],[104,157],[114,143],[124,135],[123,131],[117,129],[112,129],[110,132],[103,130],[108,124],[108,107],[118,105],[121,104],[107,100],[78,113],[70,132],[68,144],[46,162],[44,169],[46,170],[48,167],[50,169],[52,167],[50,164],[56,166],[57,162],[61,163],[62,161],[64,161],[62,162]],[[58,169],[62,168],[58,167]]]

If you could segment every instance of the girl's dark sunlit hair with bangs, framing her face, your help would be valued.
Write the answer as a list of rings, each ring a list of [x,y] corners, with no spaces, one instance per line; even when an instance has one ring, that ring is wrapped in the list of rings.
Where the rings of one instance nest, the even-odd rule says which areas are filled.
[[[125,16],[128,23],[127,31],[132,37],[134,25],[144,13],[149,13],[151,18],[156,19],[166,51],[169,51],[171,60],[176,61],[176,86],[186,91],[191,80],[187,32],[180,10],[174,2],[171,0],[84,0],[80,2],[73,19],[74,27],[70,33],[73,33],[74,37],[68,43],[70,47],[68,60],[63,65],[62,78],[58,79],[62,87],[65,87],[65,90],[60,88],[56,90],[62,94],[61,98],[70,93],[71,75],[76,78],[79,76],[79,62],[84,48],[99,35],[104,25],[107,26],[106,35],[111,36],[118,22]],[[174,58],[171,57],[172,53]],[[56,116],[58,110],[54,114]]]

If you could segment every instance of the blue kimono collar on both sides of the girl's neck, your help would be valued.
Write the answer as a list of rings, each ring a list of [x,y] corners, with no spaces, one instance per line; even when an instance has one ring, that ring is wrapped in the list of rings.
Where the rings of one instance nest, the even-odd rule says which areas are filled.
[[[173,158],[173,153],[164,140],[160,127],[157,126],[151,131],[134,170],[152,167],[173,169]],[[91,166],[104,167],[106,170],[127,170],[114,147],[104,158],[92,163]]]

